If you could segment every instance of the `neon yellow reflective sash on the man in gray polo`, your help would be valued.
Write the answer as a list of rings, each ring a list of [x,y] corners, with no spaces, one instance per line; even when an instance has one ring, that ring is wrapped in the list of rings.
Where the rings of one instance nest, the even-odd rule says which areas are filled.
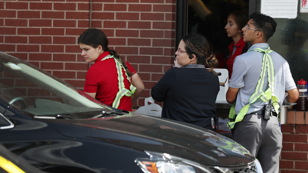
[[[248,111],[249,104],[254,103],[258,98],[260,98],[264,102],[267,102],[268,100],[272,99],[273,107],[276,113],[279,114],[278,110],[280,106],[278,103],[278,98],[274,94],[274,66],[273,66],[272,58],[269,55],[269,53],[273,51],[270,49],[270,47],[268,47],[266,50],[263,50],[261,48],[256,48],[256,49],[253,49],[253,51],[265,53],[263,56],[262,71],[261,71],[260,79],[258,81],[258,85],[256,87],[255,93],[253,93],[253,95],[249,99],[249,103],[240,110],[237,116],[235,115],[235,102],[232,104],[230,108],[230,112],[229,112],[230,121],[227,123],[227,126],[230,129],[234,127],[235,123],[243,120],[244,116],[246,115]],[[265,92],[263,92],[262,88],[264,85],[264,77],[266,75],[266,67],[267,67],[269,88]]]

